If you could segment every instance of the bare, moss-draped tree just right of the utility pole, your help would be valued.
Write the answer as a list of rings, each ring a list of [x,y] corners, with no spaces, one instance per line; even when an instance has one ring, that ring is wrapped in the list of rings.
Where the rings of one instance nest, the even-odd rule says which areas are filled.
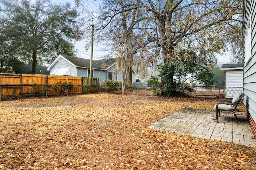
[[[97,23],[98,39],[111,45],[111,55],[118,57],[117,69],[122,72],[122,92],[126,85],[132,84],[133,58],[138,49],[144,47],[144,33],[138,23],[145,20],[138,13],[137,0],[103,0],[94,18]],[[92,14],[92,12],[89,12]],[[92,15],[90,15],[91,18]]]

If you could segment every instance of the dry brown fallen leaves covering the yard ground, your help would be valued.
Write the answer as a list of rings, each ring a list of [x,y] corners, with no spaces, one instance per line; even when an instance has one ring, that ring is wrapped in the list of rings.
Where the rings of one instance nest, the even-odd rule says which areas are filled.
[[[1,101],[0,169],[256,169],[253,148],[148,128],[216,101],[117,94]]]

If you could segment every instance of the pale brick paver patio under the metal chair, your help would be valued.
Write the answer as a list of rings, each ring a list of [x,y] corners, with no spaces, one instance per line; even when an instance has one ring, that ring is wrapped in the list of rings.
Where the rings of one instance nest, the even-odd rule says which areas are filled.
[[[226,111],[220,113],[217,123],[215,110],[188,108],[153,123],[150,128],[256,147],[246,116],[243,112],[236,112],[236,115],[239,124],[233,113]]]

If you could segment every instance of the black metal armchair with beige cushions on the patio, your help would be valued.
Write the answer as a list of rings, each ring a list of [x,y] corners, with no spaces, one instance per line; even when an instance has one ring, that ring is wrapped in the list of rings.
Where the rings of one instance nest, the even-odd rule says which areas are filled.
[[[238,124],[237,121],[237,116],[236,116],[236,107],[238,106],[240,100],[244,97],[244,93],[241,94],[235,94],[233,100],[224,100],[220,99],[218,103],[214,106],[214,109],[216,109],[216,121],[219,122],[218,116],[220,116],[220,111],[232,111],[235,118],[236,118],[236,123]],[[226,102],[222,102],[226,101]]]

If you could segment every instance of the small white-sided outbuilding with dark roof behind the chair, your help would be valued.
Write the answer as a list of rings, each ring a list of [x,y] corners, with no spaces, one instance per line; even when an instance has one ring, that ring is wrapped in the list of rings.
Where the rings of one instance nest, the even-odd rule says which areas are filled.
[[[223,64],[226,74],[226,98],[233,98],[236,93],[243,92],[243,64]]]

